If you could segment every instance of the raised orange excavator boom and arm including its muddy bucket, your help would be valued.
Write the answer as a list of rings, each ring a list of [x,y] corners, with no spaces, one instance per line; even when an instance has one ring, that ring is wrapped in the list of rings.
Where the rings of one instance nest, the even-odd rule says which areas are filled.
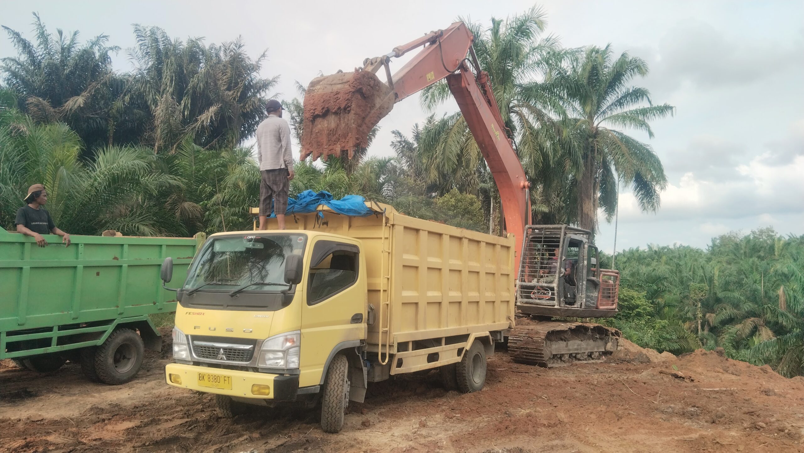
[[[516,250],[521,250],[525,226],[530,223],[529,183],[507,136],[489,76],[474,56],[473,41],[466,23],[457,22],[394,47],[384,56],[366,59],[363,68],[355,68],[355,72],[314,79],[304,101],[301,159],[310,154],[313,159],[326,159],[343,151],[351,158],[356,148],[367,146],[368,133],[396,102],[446,79],[497,184],[506,229],[515,236]],[[423,48],[392,75],[391,58],[419,47]],[[375,75],[381,69],[387,84]],[[516,262],[519,266],[519,260]]]

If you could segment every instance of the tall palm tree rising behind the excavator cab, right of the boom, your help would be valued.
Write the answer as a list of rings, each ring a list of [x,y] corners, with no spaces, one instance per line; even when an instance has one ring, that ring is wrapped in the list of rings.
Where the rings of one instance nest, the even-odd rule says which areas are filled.
[[[653,105],[648,90],[630,86],[648,67],[627,52],[615,59],[610,45],[592,46],[570,61],[552,68],[540,89],[559,97],[572,121],[575,146],[569,151],[572,160],[580,161],[575,175],[578,224],[594,230],[598,207],[611,220],[618,177],[632,188],[642,210],[655,211],[659,191],[667,185],[662,163],[649,145],[613,128],[640,130],[653,138],[649,121],[672,115],[675,108]]]

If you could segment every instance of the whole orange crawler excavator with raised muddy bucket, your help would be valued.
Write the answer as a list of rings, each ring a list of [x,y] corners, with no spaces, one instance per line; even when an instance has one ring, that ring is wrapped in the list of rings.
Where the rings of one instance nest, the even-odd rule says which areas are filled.
[[[598,269],[591,233],[569,225],[531,224],[525,171],[500,116],[489,76],[482,71],[466,23],[367,58],[354,72],[320,76],[305,94],[301,159],[326,159],[367,146],[369,132],[396,102],[446,80],[494,177],[508,233],[520,250],[517,327],[508,350],[524,364],[558,366],[600,360],[617,348],[620,332],[596,323],[553,320],[602,318],[617,313],[619,273]],[[392,74],[392,58],[421,50]],[[386,83],[377,72],[384,72]]]

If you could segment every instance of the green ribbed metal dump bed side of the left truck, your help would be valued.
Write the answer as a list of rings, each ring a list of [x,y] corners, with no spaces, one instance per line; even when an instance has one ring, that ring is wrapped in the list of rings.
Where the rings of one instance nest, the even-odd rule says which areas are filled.
[[[19,334],[38,335],[36,350],[52,352],[77,347],[57,341],[76,334],[66,329],[93,327],[100,332],[105,325],[103,339],[111,332],[109,326],[121,322],[147,322],[142,327],[154,330],[147,315],[176,308],[175,293],[162,288],[162,262],[173,257],[172,286],[180,286],[205,239],[203,234],[72,236],[72,245],[64,247],[61,237],[44,237],[50,245],[43,248],[32,237],[0,230],[0,358],[6,356],[11,337],[23,339]],[[43,338],[51,338],[50,347],[42,348]]]

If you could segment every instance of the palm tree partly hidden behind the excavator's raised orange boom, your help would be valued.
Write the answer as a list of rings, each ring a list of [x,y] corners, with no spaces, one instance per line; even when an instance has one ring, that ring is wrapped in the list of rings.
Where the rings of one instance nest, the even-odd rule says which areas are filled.
[[[544,154],[558,143],[551,113],[563,112],[560,104],[535,89],[536,80],[548,70],[544,57],[556,52],[557,40],[541,36],[546,25],[544,10],[536,7],[505,20],[492,18],[489,28],[469,25],[480,67],[489,74],[500,114],[534,186],[540,173],[551,167]],[[449,97],[442,80],[422,91],[421,104],[433,109]],[[440,193],[455,184],[466,186],[458,187],[461,191],[476,192],[476,169],[485,164],[461,113],[429,118],[421,135],[420,158],[429,169],[428,182],[435,183]]]

